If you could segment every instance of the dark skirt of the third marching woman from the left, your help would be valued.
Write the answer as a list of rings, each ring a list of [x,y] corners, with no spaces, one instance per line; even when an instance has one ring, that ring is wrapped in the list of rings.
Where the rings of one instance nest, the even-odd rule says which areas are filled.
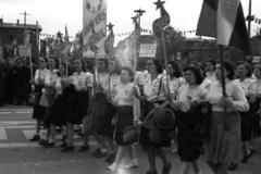
[[[66,125],[66,111],[67,107],[64,103],[63,96],[58,95],[50,112],[50,123],[57,126]]]

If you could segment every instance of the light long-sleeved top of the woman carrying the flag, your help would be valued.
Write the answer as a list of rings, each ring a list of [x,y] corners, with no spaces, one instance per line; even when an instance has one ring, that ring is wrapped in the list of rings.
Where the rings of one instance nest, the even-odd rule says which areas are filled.
[[[240,85],[235,80],[226,79],[225,87],[227,97],[233,99],[233,104],[227,107],[227,111],[247,112],[249,110],[249,103]],[[224,112],[222,94],[222,84],[220,82],[212,83],[206,99],[212,104],[212,111]]]

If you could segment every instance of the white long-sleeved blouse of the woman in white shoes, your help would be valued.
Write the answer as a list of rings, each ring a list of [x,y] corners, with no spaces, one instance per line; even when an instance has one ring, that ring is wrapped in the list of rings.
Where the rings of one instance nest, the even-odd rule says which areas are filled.
[[[140,101],[133,95],[133,87],[134,87],[133,83],[119,85],[116,87],[116,95],[115,95],[114,102],[117,107],[133,105],[134,121],[138,121],[140,115]],[[138,90],[137,86],[136,88]]]

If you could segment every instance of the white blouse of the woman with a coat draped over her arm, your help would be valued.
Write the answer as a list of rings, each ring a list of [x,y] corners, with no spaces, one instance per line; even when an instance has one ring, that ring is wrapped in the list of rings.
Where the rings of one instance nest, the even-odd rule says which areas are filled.
[[[146,79],[145,86],[144,86],[144,94],[147,101],[164,101],[166,100],[166,76],[163,76],[162,74],[159,74],[156,79],[151,82],[151,76]],[[161,88],[160,88],[160,80],[162,78]],[[160,89],[159,89],[160,88]],[[170,94],[174,94],[174,90],[172,88],[171,82],[169,83],[169,89]],[[160,92],[159,92],[160,90]],[[159,96],[158,96],[159,94]]]

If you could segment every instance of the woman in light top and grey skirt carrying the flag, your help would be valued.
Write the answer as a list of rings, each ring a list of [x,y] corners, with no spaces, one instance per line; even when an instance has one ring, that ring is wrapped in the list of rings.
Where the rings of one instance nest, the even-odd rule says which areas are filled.
[[[239,160],[241,151],[240,117],[237,112],[248,112],[249,104],[240,85],[234,82],[235,71],[232,63],[224,61],[228,97],[222,95],[221,63],[217,62],[215,67],[217,80],[211,84],[206,99],[212,105],[212,114],[210,140],[206,142],[204,152],[207,163],[215,173],[227,174],[227,164]]]

